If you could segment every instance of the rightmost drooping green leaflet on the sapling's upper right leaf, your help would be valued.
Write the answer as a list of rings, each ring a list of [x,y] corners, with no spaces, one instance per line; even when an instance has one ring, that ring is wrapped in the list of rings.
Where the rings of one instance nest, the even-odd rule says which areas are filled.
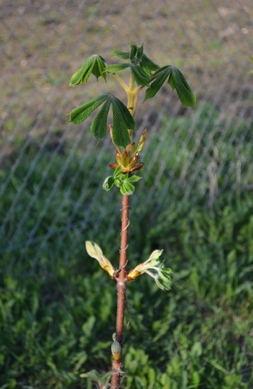
[[[176,89],[178,97],[184,107],[195,107],[197,98],[190,89],[184,75],[175,66],[170,66],[171,73],[169,76],[168,84],[172,89]]]

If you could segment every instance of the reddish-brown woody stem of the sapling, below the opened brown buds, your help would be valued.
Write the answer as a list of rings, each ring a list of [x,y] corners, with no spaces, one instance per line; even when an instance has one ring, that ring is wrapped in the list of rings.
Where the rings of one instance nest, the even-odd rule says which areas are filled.
[[[121,243],[120,243],[120,270],[117,279],[117,318],[116,318],[116,340],[122,344],[124,331],[124,310],[126,297],[126,264],[127,264],[127,235],[129,226],[129,196],[122,196],[122,219],[121,219]],[[121,362],[113,361],[111,389],[118,389],[120,386]]]

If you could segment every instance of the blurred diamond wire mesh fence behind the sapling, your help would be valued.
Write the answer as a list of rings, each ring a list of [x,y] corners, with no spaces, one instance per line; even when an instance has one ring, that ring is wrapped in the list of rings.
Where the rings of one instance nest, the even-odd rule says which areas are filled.
[[[137,3],[122,0],[17,0],[2,1],[0,4],[0,167],[8,171],[7,175],[3,175],[0,199],[6,196],[9,185],[16,185],[15,196],[9,199],[7,207],[1,207],[2,254],[13,253],[15,260],[22,261],[27,250],[32,249],[36,262],[52,236],[58,236],[58,244],[54,248],[54,254],[57,254],[72,230],[76,235],[72,235],[70,252],[75,250],[81,232],[90,221],[93,225],[91,232],[95,235],[108,215],[107,209],[114,201],[115,194],[109,192],[106,197],[102,196],[101,185],[97,185],[95,177],[102,169],[100,162],[112,151],[110,141],[106,139],[96,146],[87,123],[74,127],[65,122],[66,114],[84,99],[109,88],[114,92],[114,86],[108,82],[108,85],[87,85],[79,87],[79,90],[67,87],[71,75],[85,58],[94,53],[105,56],[115,48],[122,49],[122,43],[123,50],[127,50],[131,42],[144,42],[146,52],[151,58],[157,58],[159,64],[164,65],[169,61],[178,65],[198,95],[198,109],[193,112],[182,109],[178,99],[166,88],[162,88],[156,101],[140,105],[136,118],[138,132],[145,127],[151,128],[144,151],[146,155],[157,134],[161,140],[153,150],[151,161],[146,161],[138,189],[138,193],[146,199],[147,206],[155,204],[153,218],[159,213],[171,186],[175,190],[170,203],[176,202],[182,193],[185,202],[196,202],[203,193],[208,193],[210,204],[228,185],[231,193],[250,187],[253,143],[250,131],[252,76],[248,74],[253,32],[250,1],[213,1],[204,4],[181,0],[170,4],[158,0],[154,4],[151,1]],[[124,96],[119,97],[124,99]],[[211,103],[208,110],[206,102]],[[217,108],[219,114],[215,116]],[[201,115],[204,115],[201,128],[196,133]],[[164,121],[168,116],[183,119],[171,137],[167,152],[163,152],[167,133],[172,126],[171,122]],[[207,136],[211,119],[213,130]],[[240,131],[242,124],[243,131]],[[187,135],[182,138],[186,125]],[[180,153],[177,153],[179,145]],[[234,152],[230,158],[232,145]],[[22,173],[21,166],[31,148],[36,152],[33,151],[29,169]],[[48,150],[50,159],[34,184],[33,174]],[[71,177],[63,199],[53,209],[53,220],[47,225],[44,218],[48,212],[52,212],[51,205],[56,202],[61,182],[80,151],[82,157],[78,168]],[[80,187],[79,197],[62,222],[66,204],[71,202],[73,189],[94,152],[96,161]],[[177,154],[175,162],[168,169],[167,156],[173,153]],[[65,155],[62,160],[59,159],[61,154]],[[182,163],[186,154],[187,158]],[[195,168],[191,170],[193,161]],[[156,177],[148,191],[145,184],[157,163]],[[59,170],[55,182],[50,182],[52,169]],[[107,169],[100,177],[103,179],[108,173]],[[156,193],[163,176],[166,177],[163,189]],[[218,185],[221,176],[222,184]],[[47,181],[51,184],[51,190],[44,198],[43,187]],[[96,189],[90,198],[89,187],[92,185],[96,185]],[[24,199],[27,188],[30,196]],[[138,193],[132,200],[133,208],[138,203]],[[38,199],[43,205],[35,212]],[[83,207],[85,218],[77,220]],[[108,236],[118,218],[119,207],[110,215]],[[22,211],[16,219],[18,208]],[[67,258],[68,253],[64,255]]]

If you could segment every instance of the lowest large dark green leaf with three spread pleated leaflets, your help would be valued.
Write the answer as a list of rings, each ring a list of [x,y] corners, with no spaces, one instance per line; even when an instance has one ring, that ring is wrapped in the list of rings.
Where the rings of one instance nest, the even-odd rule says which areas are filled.
[[[99,105],[104,104],[91,124],[91,132],[99,139],[106,136],[107,116],[110,104],[113,107],[112,136],[116,146],[126,147],[130,143],[128,129],[134,130],[135,122],[127,107],[113,94],[106,92],[91,99],[87,103],[75,108],[70,113],[70,120],[74,124],[82,123]]]

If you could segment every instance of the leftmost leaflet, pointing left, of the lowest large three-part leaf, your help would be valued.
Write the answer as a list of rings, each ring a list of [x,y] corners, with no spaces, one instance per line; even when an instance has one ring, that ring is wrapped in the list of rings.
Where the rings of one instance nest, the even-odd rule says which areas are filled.
[[[67,122],[72,122],[74,124],[82,123],[90,114],[101,105],[105,100],[109,98],[108,93],[100,93],[100,95],[89,100],[87,103],[73,109],[70,113],[70,120]]]

